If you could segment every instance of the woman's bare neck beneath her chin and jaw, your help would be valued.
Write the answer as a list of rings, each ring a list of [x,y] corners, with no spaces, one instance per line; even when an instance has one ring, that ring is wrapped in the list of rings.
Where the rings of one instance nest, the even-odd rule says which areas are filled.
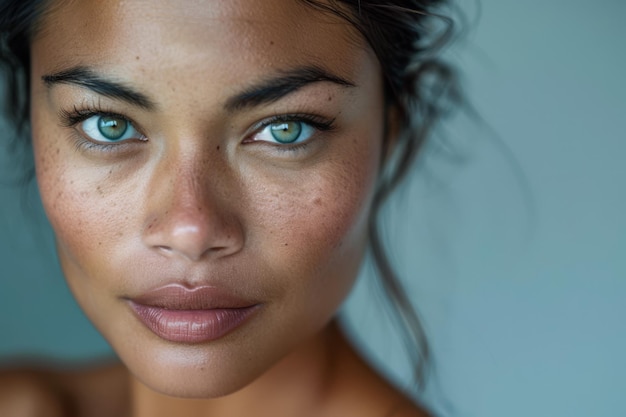
[[[303,343],[245,388],[214,399],[181,399],[132,382],[132,416],[305,416],[319,414],[335,385],[347,342],[335,323]],[[348,348],[350,349],[350,348]]]

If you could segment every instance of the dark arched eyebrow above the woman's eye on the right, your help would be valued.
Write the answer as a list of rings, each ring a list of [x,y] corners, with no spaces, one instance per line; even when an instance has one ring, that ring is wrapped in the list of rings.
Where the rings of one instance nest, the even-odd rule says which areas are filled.
[[[224,108],[229,112],[268,104],[294,93],[309,84],[331,82],[343,87],[356,85],[345,78],[334,75],[318,66],[304,66],[281,71],[277,77],[261,81],[226,101]]]

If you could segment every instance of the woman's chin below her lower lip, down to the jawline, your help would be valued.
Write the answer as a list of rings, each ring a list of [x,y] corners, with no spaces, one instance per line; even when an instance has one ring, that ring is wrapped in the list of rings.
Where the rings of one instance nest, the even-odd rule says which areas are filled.
[[[303,326],[285,337],[252,322],[200,344],[168,342],[145,330],[124,337],[118,332],[113,338],[105,331],[105,337],[134,378],[151,390],[172,397],[211,399],[233,394],[268,375],[298,350],[302,339],[323,328],[323,323],[315,328]]]

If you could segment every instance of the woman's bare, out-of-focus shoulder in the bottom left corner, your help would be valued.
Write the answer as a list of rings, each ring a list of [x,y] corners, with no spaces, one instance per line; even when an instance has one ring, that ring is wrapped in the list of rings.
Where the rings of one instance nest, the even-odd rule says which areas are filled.
[[[127,371],[118,364],[0,370],[0,416],[123,415],[127,387]]]

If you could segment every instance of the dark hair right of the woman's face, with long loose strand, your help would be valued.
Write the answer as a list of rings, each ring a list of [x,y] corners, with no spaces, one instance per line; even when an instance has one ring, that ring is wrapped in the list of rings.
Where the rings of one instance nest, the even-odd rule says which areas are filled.
[[[387,253],[378,218],[389,195],[406,177],[436,123],[450,104],[460,102],[457,77],[440,57],[453,34],[453,21],[441,14],[446,0],[304,0],[350,22],[374,50],[382,68],[387,106],[398,124],[392,155],[383,170],[368,223],[369,243],[389,312],[400,325],[406,351],[415,364],[418,390],[426,383],[430,349],[415,307]]]

